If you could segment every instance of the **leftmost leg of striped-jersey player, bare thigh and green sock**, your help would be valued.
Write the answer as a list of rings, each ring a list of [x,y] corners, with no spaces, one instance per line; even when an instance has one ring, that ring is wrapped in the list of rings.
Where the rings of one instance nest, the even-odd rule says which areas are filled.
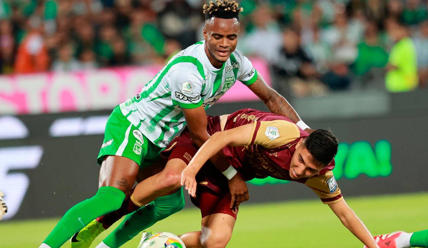
[[[43,241],[60,247],[93,219],[121,207],[138,173],[138,164],[122,156],[107,156],[101,164],[97,193],[71,207]]]

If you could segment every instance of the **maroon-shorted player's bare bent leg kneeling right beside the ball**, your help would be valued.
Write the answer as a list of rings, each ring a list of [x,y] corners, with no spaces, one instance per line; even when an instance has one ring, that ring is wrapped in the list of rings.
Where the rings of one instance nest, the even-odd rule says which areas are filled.
[[[187,248],[225,248],[232,237],[235,218],[225,213],[214,213],[202,218],[201,231],[180,236]]]

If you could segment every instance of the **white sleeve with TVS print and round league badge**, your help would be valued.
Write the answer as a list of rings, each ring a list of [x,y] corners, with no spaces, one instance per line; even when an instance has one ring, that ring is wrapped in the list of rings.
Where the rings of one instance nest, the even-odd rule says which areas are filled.
[[[202,105],[202,79],[196,72],[177,68],[169,72],[172,103],[184,109]]]

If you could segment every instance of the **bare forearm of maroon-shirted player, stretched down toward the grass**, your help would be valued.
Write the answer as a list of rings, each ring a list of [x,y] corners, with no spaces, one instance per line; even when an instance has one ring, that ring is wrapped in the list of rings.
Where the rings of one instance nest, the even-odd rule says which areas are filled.
[[[375,240],[364,225],[363,221],[358,218],[354,211],[349,210],[342,216],[338,216],[342,224],[351,231],[364,245],[368,248],[378,248]]]

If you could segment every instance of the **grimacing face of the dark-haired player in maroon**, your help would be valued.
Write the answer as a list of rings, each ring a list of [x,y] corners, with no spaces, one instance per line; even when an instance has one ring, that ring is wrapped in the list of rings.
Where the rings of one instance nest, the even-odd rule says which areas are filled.
[[[296,151],[291,158],[290,177],[299,179],[303,177],[312,177],[320,171],[323,166],[317,165],[312,160],[312,155],[306,149],[302,140],[296,145]]]

